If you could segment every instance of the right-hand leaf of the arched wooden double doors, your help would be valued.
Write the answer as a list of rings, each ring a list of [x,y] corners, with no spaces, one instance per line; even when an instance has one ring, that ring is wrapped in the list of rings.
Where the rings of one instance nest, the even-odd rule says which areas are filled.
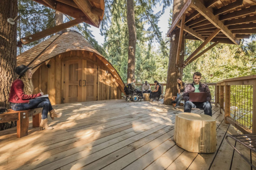
[[[86,101],[97,100],[97,65],[86,62]]]

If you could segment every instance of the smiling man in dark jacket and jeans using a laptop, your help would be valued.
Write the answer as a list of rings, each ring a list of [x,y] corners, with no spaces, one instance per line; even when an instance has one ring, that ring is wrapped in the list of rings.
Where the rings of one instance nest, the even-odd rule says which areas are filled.
[[[185,101],[185,106],[184,106],[184,112],[191,112],[192,108],[199,108],[199,109],[204,109],[204,114],[205,115],[209,115],[212,116],[212,106],[211,106],[211,92],[209,87],[206,84],[202,84],[200,82],[201,80],[201,73],[200,72],[195,72],[193,74],[193,83],[188,84],[185,87],[185,90],[183,92],[183,99]],[[207,97],[206,97],[206,102],[190,102],[189,101],[189,93],[191,92],[206,92],[207,93]]]

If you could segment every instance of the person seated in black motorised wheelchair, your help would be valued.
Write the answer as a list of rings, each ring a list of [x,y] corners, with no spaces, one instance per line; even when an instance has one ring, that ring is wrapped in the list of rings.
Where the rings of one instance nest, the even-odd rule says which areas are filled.
[[[126,101],[142,101],[143,94],[142,91],[136,89],[135,87],[136,79],[132,79],[132,83],[127,84],[127,86],[124,87],[124,91],[126,94]]]

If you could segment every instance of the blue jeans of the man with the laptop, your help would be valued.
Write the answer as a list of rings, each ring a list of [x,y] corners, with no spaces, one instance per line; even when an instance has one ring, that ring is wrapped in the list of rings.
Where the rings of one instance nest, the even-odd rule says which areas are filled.
[[[191,112],[192,108],[199,108],[204,110],[205,115],[212,116],[212,105],[210,102],[190,102],[186,101],[184,106],[184,112]]]

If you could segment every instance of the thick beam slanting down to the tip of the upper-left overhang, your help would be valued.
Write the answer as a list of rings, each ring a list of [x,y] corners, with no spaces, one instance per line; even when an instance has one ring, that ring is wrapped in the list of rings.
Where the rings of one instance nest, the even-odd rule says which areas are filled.
[[[83,11],[88,19],[96,26],[99,27],[99,16],[92,13],[92,6],[87,0],[74,0],[76,5]]]

